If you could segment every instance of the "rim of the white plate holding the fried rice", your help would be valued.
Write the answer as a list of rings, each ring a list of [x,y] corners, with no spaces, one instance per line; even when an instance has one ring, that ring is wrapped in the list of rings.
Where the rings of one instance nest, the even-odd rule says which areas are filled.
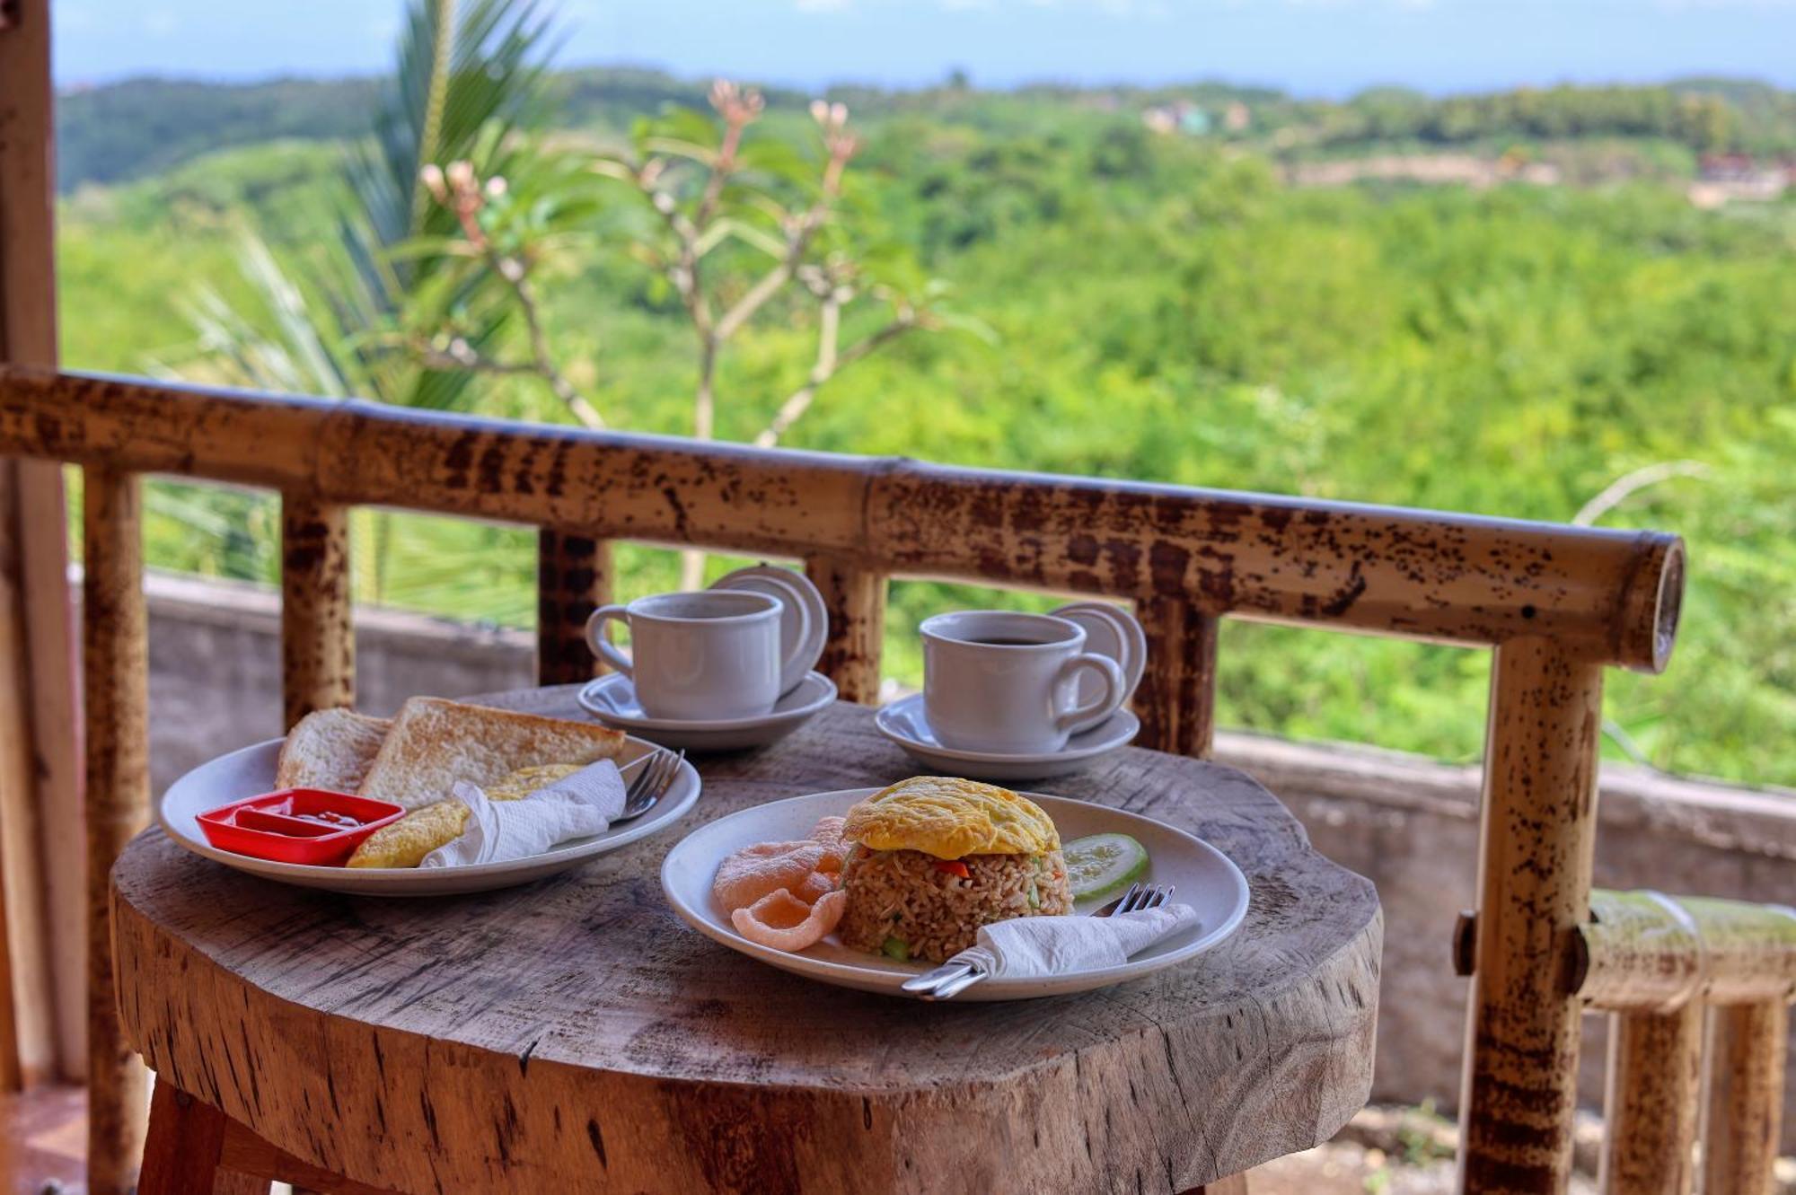
[[[891,996],[905,996],[905,992],[902,990],[900,985],[907,978],[911,978],[914,974],[921,974],[923,971],[927,971],[927,967],[920,965],[920,971],[914,971],[914,973],[907,971],[907,973],[900,974],[900,973],[880,971],[880,969],[873,969],[873,967],[858,967],[858,965],[853,965],[853,964],[830,962],[826,958],[808,958],[808,956],[794,953],[794,951],[781,951],[781,949],[774,949],[770,946],[762,946],[760,942],[751,942],[751,940],[744,938],[735,929],[724,929],[720,926],[713,926],[709,920],[706,920],[704,917],[700,917],[697,913],[697,910],[690,910],[675,895],[674,885],[668,881],[668,876],[674,872],[674,865],[677,861],[677,856],[679,856],[681,849],[693,836],[697,836],[697,834],[700,834],[700,833],[704,833],[704,831],[708,831],[711,827],[722,825],[722,824],[726,824],[729,820],[742,818],[742,816],[747,816],[747,815],[753,815],[753,813],[760,813],[760,811],[769,809],[772,806],[785,806],[785,804],[794,804],[794,802],[801,802],[801,800],[817,800],[821,797],[855,797],[858,800],[862,797],[867,797],[867,795],[878,793],[878,791],[880,791],[878,788],[837,788],[837,789],[823,789],[823,791],[815,791],[815,793],[799,793],[797,797],[783,797],[781,800],[767,800],[767,802],[762,802],[758,806],[749,806],[747,809],[736,809],[735,813],[726,813],[724,816],[713,818],[711,822],[706,822],[704,825],[695,825],[693,829],[686,831],[686,834],[677,843],[674,843],[668,849],[666,856],[661,859],[661,895],[663,895],[663,899],[668,903],[668,906],[674,910],[674,913],[682,922],[686,922],[688,926],[691,926],[693,929],[697,929],[700,935],[711,938],[713,942],[717,942],[717,944],[720,944],[720,946],[724,946],[727,949],[733,949],[733,951],[736,951],[740,955],[747,955],[749,958],[754,958],[758,962],[765,962],[765,964],[769,964],[772,967],[778,967],[779,971],[787,971],[790,974],[797,974],[797,976],[806,978],[806,980],[817,980],[817,978],[821,978],[821,974],[828,974],[828,976],[835,976],[835,978],[844,980],[844,981],[846,980],[853,980],[853,983],[844,983],[844,985],[846,987],[855,987],[858,990],[869,990],[869,992],[891,994]],[[986,981],[986,983],[981,985],[984,989],[984,994],[988,998],[991,998],[991,999],[1002,999],[1002,998],[1006,998],[1006,994],[1009,994],[1011,998],[1058,996],[1058,994],[1074,994],[1074,990],[1092,990],[1092,989],[1099,989],[1099,987],[1110,987],[1114,983],[1126,983],[1128,980],[1135,980],[1135,978],[1144,976],[1144,974],[1153,974],[1155,971],[1164,971],[1167,967],[1175,967],[1175,965],[1178,965],[1182,962],[1196,958],[1198,955],[1202,955],[1202,953],[1205,953],[1205,951],[1209,951],[1209,949],[1212,949],[1216,946],[1221,946],[1225,940],[1228,940],[1230,937],[1234,937],[1236,929],[1241,928],[1241,922],[1246,920],[1248,906],[1252,904],[1252,899],[1254,899],[1254,886],[1248,883],[1246,874],[1243,874],[1241,867],[1234,859],[1230,859],[1223,850],[1219,850],[1218,847],[1214,847],[1214,845],[1207,843],[1205,840],[1198,838],[1191,831],[1180,829],[1178,825],[1173,825],[1169,822],[1160,822],[1158,818],[1149,818],[1149,816],[1146,816],[1142,813],[1131,813],[1128,809],[1117,809],[1114,806],[1103,806],[1103,804],[1090,802],[1090,800],[1079,800],[1078,797],[1056,797],[1052,793],[1027,793],[1027,791],[1020,793],[1020,795],[1027,797],[1031,800],[1042,800],[1045,797],[1049,802],[1079,804],[1079,806],[1088,806],[1088,807],[1094,807],[1094,809],[1103,809],[1106,813],[1117,813],[1117,815],[1122,815],[1124,818],[1139,818],[1142,822],[1151,822],[1153,825],[1157,825],[1157,827],[1160,827],[1164,831],[1169,831],[1169,833],[1173,833],[1173,834],[1176,834],[1180,838],[1189,840],[1189,843],[1193,847],[1196,847],[1196,850],[1200,854],[1214,858],[1214,861],[1219,861],[1223,865],[1225,874],[1232,876],[1234,886],[1236,886],[1236,904],[1230,910],[1230,913],[1214,929],[1211,929],[1209,933],[1203,933],[1202,937],[1198,937],[1198,940],[1194,940],[1194,942],[1191,942],[1187,946],[1182,946],[1182,947],[1178,947],[1176,951],[1173,951],[1169,955],[1157,955],[1153,958],[1144,958],[1140,962],[1124,962],[1124,964],[1115,965],[1115,967],[1096,967],[1092,971],[1078,971],[1078,973],[1069,974],[1069,976],[1051,976],[1051,978],[1043,978],[1043,980],[990,980],[990,981]],[[828,816],[828,815],[824,815],[824,816]],[[1083,987],[1070,989],[1070,990],[1056,990],[1056,985],[1063,983],[1063,981],[1078,981]],[[1043,990],[1043,989],[1047,989],[1047,990]]]

